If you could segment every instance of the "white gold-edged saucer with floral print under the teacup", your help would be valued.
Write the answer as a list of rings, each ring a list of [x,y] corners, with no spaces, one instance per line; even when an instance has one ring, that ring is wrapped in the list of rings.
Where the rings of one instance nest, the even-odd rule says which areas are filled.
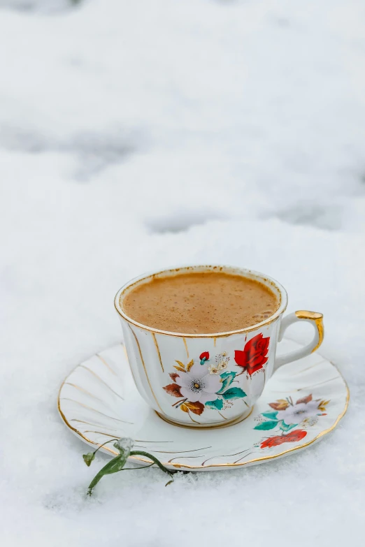
[[[287,353],[302,347],[280,342]],[[194,430],[171,425],[139,395],[122,344],[96,353],[64,380],[58,409],[87,444],[131,437],[134,448],[171,469],[210,471],[256,465],[314,444],[336,428],[348,408],[348,386],[319,353],[281,367],[245,420],[226,428]],[[113,443],[101,448],[117,455]],[[129,458],[150,463],[140,456]]]

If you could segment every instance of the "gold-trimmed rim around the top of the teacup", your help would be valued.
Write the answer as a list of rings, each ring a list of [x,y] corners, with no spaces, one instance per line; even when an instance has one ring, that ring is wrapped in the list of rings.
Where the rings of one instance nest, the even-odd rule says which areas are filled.
[[[226,268],[227,270],[239,270],[241,272],[241,275],[244,277],[244,272],[247,272],[247,274],[251,274],[254,277],[259,277],[262,279],[262,281],[269,282],[269,284],[273,285],[275,289],[279,292],[280,296],[280,302],[279,307],[276,310],[276,312],[266,319],[265,321],[262,321],[261,323],[257,323],[256,325],[252,325],[250,327],[241,328],[238,330],[231,330],[228,333],[208,333],[208,334],[188,334],[188,333],[172,333],[169,332],[169,330],[159,330],[157,328],[148,327],[147,325],[143,325],[142,323],[138,323],[138,321],[134,321],[134,319],[131,319],[131,317],[127,316],[120,307],[120,296],[122,295],[122,292],[128,289],[130,286],[137,284],[143,279],[146,279],[147,277],[152,277],[154,275],[159,275],[167,272],[173,272],[178,270],[187,270],[189,268]],[[237,274],[238,275],[238,274]],[[283,302],[285,302],[283,304]],[[114,307],[117,310],[117,313],[124,319],[124,321],[127,321],[127,323],[131,323],[132,325],[141,328],[142,330],[148,330],[150,333],[156,333],[160,335],[165,336],[178,336],[181,338],[225,338],[227,336],[235,335],[235,334],[241,334],[241,333],[250,333],[252,330],[257,330],[258,328],[262,328],[263,326],[270,325],[273,323],[273,321],[276,321],[279,319],[280,315],[285,312],[285,309],[287,309],[287,291],[285,291],[284,287],[275,279],[272,277],[269,277],[269,275],[264,275],[261,272],[256,272],[255,270],[248,270],[247,268],[234,268],[234,266],[218,266],[218,265],[195,265],[195,266],[181,266],[180,268],[169,268],[167,270],[160,270],[159,272],[151,272],[148,274],[143,274],[139,277],[135,277],[134,279],[131,279],[129,282],[124,284],[119,291],[117,291],[117,294],[114,298]]]

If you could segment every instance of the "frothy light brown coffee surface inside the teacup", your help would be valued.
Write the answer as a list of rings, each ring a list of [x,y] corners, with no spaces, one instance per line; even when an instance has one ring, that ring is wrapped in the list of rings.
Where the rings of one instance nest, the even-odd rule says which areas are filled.
[[[227,333],[264,321],[278,298],[262,283],[225,272],[191,272],[137,285],[120,302],[145,326],[184,334]]]

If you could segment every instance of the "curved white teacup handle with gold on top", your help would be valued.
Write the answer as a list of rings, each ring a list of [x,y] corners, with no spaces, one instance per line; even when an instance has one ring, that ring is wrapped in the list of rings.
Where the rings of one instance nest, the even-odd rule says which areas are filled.
[[[313,351],[318,349],[323,342],[323,314],[320,314],[319,312],[307,312],[305,309],[299,309],[298,312],[289,314],[284,317],[284,319],[282,319],[278,342],[282,341],[285,330],[287,330],[287,328],[293,323],[296,323],[296,321],[307,321],[308,323],[313,325],[313,328],[315,330],[313,340],[301,349],[296,349],[295,351],[290,351],[290,353],[285,353],[285,355],[277,357],[275,359],[273,372],[275,372],[275,370],[278,370],[278,368],[282,365],[286,365],[286,363],[296,361],[297,359],[301,359],[302,357],[306,357],[310,353],[313,353]]]

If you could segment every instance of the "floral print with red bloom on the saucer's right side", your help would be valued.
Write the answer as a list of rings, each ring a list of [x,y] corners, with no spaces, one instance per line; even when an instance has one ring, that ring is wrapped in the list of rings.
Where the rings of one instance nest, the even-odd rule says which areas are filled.
[[[317,416],[326,416],[324,412],[326,410],[326,405],[329,403],[329,400],[316,399],[313,400],[313,395],[307,395],[301,399],[298,399],[295,403],[292,400],[292,397],[287,397],[286,399],[278,399],[275,402],[270,402],[269,407],[271,411],[262,412],[260,416],[260,423],[255,425],[254,429],[268,431],[271,429],[279,428],[284,432],[296,428],[297,425],[301,425],[302,428],[306,428],[317,423]],[[297,430],[299,431],[299,430]],[[292,431],[294,433],[294,431]],[[277,442],[276,444],[281,444],[282,442],[294,442],[296,439],[295,435],[283,435],[285,441]],[[304,435],[303,435],[304,436]],[[302,437],[300,437],[302,438]],[[273,437],[271,437],[273,439]],[[269,442],[269,439],[267,439]],[[265,444],[265,446],[275,446],[273,444]]]

